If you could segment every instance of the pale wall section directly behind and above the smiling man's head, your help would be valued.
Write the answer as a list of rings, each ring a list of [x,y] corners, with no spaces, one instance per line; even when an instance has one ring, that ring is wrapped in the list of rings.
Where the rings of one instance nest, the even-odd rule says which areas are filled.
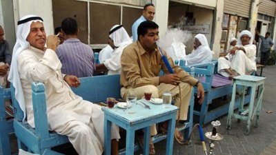
[[[46,34],[54,34],[52,20],[52,1],[50,0],[13,0],[14,23],[17,29],[17,21],[28,14],[34,14],[43,19]]]

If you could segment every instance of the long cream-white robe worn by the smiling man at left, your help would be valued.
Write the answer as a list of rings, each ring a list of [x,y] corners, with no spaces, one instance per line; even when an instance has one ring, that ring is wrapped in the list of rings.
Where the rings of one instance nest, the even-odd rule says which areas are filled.
[[[41,81],[46,89],[49,129],[67,135],[78,154],[102,154],[104,136],[101,107],[84,101],[72,92],[63,81],[57,54],[50,49],[43,52],[30,47],[19,54],[17,62],[28,123],[34,127],[31,83]],[[118,139],[119,130],[116,127],[114,130],[112,138]]]

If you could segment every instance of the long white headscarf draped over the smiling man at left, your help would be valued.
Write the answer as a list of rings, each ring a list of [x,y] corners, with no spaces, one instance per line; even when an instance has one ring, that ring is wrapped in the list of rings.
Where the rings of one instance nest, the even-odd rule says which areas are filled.
[[[37,17],[37,16],[27,15],[25,17],[22,17],[20,21],[24,19],[28,19],[30,17]],[[8,81],[10,81],[15,88],[15,98],[19,102],[21,110],[23,111],[23,114],[24,114],[23,120],[25,120],[26,118],[26,105],[25,105],[25,100],[23,96],[23,89],[20,81],[20,76],[17,68],[17,57],[23,50],[25,50],[30,46],[30,43],[26,41],[26,39],[28,37],[28,34],[30,33],[31,23],[37,22],[37,21],[43,23],[43,21],[39,19],[34,19],[26,23],[21,23],[20,25],[17,26],[17,42],[15,43],[13,48],[12,63],[10,65],[10,74],[8,76]]]

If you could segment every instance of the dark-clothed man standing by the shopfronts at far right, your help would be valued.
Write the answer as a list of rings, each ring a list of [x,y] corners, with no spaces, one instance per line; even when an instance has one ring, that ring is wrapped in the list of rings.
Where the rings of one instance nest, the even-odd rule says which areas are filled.
[[[274,45],[273,40],[269,38],[270,32],[266,32],[265,37],[259,34],[259,31],[256,28],[256,34],[261,39],[261,48],[259,50],[261,51],[261,64],[266,65],[269,56],[270,56],[270,48]]]

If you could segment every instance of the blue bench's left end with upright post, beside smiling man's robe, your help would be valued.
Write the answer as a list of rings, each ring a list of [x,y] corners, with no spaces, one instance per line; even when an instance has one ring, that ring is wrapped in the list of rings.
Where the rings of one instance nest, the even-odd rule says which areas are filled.
[[[32,103],[34,107],[35,129],[28,123],[23,123],[23,112],[14,97],[14,87],[11,87],[12,103],[14,106],[14,132],[19,148],[35,154],[59,154],[50,150],[52,147],[68,143],[67,136],[61,136],[48,131],[46,112],[46,96],[43,83],[32,83]]]

